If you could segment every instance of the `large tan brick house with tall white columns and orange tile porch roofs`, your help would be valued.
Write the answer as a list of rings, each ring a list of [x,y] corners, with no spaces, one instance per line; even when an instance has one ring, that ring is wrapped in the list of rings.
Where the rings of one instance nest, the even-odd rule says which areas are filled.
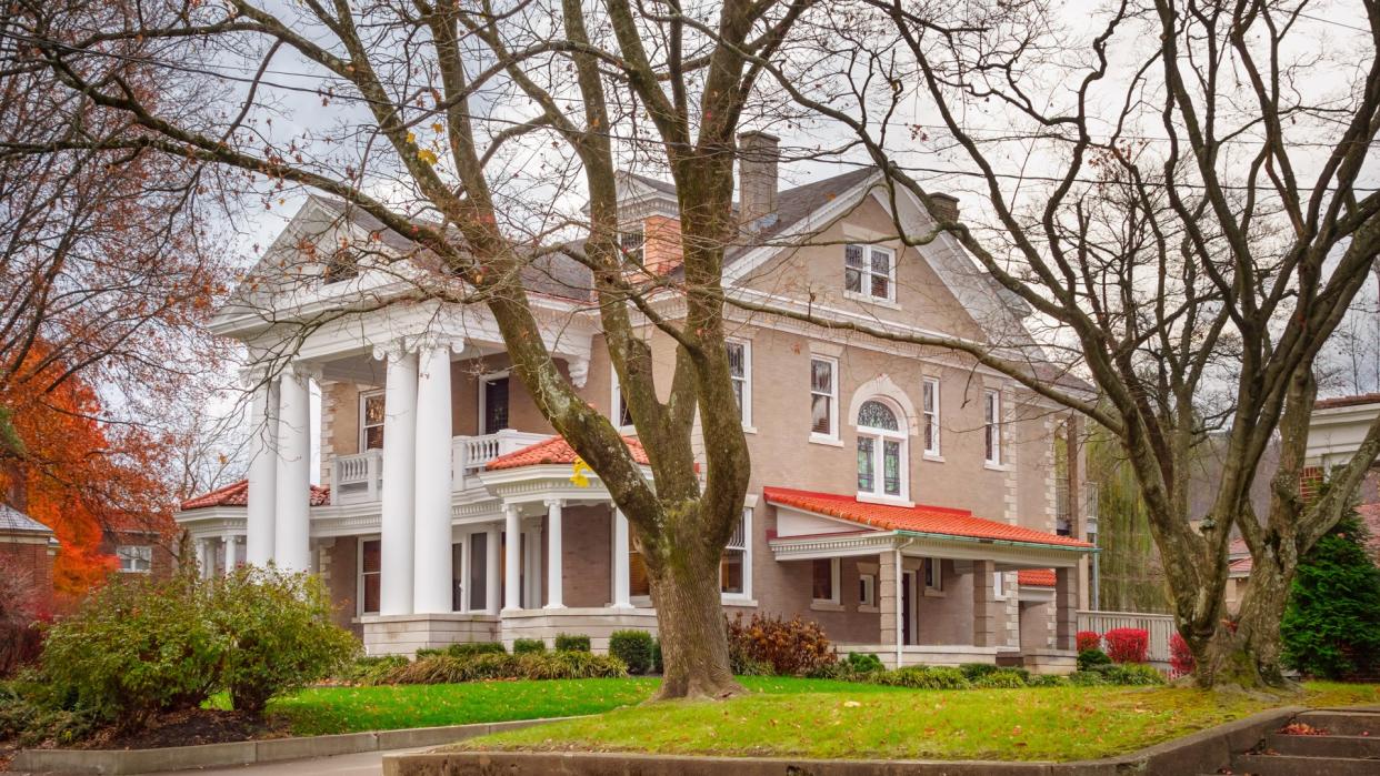
[[[753,157],[776,149],[762,134],[744,143]],[[673,187],[620,174],[618,190],[629,259],[679,272]],[[878,171],[778,192],[776,164],[765,164],[742,171],[742,190],[740,214],[752,218],[726,256],[730,294],[898,331],[1028,342],[1028,310],[949,236],[918,249],[894,238]],[[926,233],[929,214],[898,196],[907,232]],[[359,244],[370,249],[337,249]],[[602,649],[614,630],[654,631],[628,521],[598,477],[573,481],[575,455],[509,376],[487,309],[378,303],[413,288],[406,262],[378,255],[411,251],[374,219],[313,197],[255,270],[262,280],[219,312],[215,331],[259,360],[247,375],[257,453],[247,482],[182,504],[203,566],[243,557],[320,573],[370,653],[562,631]],[[553,357],[592,405],[628,423],[589,273],[560,255],[526,272]],[[683,314],[671,295],[653,303]],[[1076,440],[1078,422],[969,357],[729,316],[752,477],[720,569],[726,612],[800,613],[842,649],[889,664],[1070,668],[1093,549],[1070,498],[1083,492],[1076,444],[1057,462],[1056,441]],[[646,331],[665,385],[672,342]],[[283,353],[293,356],[269,368]],[[1032,368],[1086,387],[1039,360]],[[642,456],[631,425],[625,433]],[[310,434],[320,488],[309,485]]]

